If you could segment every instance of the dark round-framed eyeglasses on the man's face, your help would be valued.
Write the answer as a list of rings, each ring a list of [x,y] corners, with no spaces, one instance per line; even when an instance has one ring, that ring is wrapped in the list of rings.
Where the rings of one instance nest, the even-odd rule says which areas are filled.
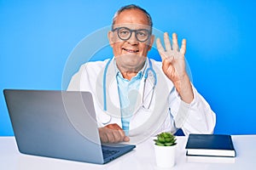
[[[139,42],[146,42],[151,34],[151,31],[147,29],[131,30],[127,27],[117,27],[114,28],[112,31],[117,31],[119,38],[124,41],[131,38],[132,32],[135,32],[135,37]]]

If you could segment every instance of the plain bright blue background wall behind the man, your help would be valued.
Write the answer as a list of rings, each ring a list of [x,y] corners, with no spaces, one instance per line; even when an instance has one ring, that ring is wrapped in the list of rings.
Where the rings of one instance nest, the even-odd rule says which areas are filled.
[[[130,3],[148,10],[154,28],[187,39],[193,82],[217,115],[214,133],[256,133],[254,2],[0,0],[0,135],[13,135],[3,88],[61,89],[73,48]]]

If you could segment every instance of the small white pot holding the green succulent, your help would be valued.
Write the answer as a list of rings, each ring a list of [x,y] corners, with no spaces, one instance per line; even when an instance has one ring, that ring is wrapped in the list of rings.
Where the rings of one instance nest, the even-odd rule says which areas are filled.
[[[173,167],[175,164],[176,145],[159,146],[154,144],[155,161],[158,167]]]

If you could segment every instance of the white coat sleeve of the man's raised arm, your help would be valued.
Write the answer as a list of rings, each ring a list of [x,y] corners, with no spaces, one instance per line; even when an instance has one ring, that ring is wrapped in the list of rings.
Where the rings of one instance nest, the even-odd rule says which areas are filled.
[[[192,85],[194,99],[186,104],[177,94],[170,94],[169,105],[176,128],[182,128],[183,133],[213,133],[216,124],[216,115],[208,105],[206,99],[197,92]]]

